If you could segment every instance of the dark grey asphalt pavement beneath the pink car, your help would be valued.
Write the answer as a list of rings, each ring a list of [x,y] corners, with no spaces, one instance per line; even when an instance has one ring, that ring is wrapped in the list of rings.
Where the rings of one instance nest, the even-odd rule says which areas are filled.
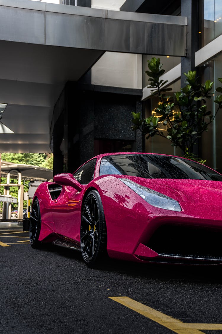
[[[122,296],[183,323],[222,324],[219,267],[109,261],[97,270],[89,269],[79,252],[58,246],[32,249],[28,232],[5,226],[0,224],[2,334],[176,332],[109,298]]]

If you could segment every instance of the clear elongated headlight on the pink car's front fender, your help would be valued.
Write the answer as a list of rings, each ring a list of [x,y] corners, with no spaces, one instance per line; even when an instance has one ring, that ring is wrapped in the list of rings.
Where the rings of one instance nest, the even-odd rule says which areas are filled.
[[[135,191],[140,197],[142,197],[147,203],[157,208],[172,210],[172,211],[181,211],[181,207],[177,201],[174,199],[163,195],[152,189],[143,187],[133,181],[128,179],[119,179],[125,183],[129,188]]]

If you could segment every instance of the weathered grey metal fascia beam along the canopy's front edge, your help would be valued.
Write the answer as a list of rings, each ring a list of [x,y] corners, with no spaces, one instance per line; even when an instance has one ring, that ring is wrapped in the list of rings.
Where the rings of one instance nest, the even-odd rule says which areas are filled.
[[[186,18],[33,2],[0,0],[0,40],[185,56]]]

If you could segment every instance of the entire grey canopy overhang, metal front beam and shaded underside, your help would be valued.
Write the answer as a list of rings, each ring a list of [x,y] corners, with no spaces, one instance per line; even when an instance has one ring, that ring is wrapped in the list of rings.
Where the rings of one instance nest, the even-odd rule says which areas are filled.
[[[169,38],[170,36],[170,38]],[[186,18],[0,0],[0,152],[50,152],[54,105],[104,51],[184,56]]]

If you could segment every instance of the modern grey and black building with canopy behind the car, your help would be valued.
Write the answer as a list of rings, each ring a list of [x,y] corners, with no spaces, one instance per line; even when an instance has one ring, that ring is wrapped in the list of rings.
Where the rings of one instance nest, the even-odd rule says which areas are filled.
[[[222,76],[221,1],[58,2],[0,0],[0,151],[51,150],[54,173],[104,152],[178,154],[167,140],[132,132],[131,112],[150,116],[156,106],[144,73],[152,55],[173,91],[190,69],[203,80]],[[202,140],[218,171],[220,118]]]

